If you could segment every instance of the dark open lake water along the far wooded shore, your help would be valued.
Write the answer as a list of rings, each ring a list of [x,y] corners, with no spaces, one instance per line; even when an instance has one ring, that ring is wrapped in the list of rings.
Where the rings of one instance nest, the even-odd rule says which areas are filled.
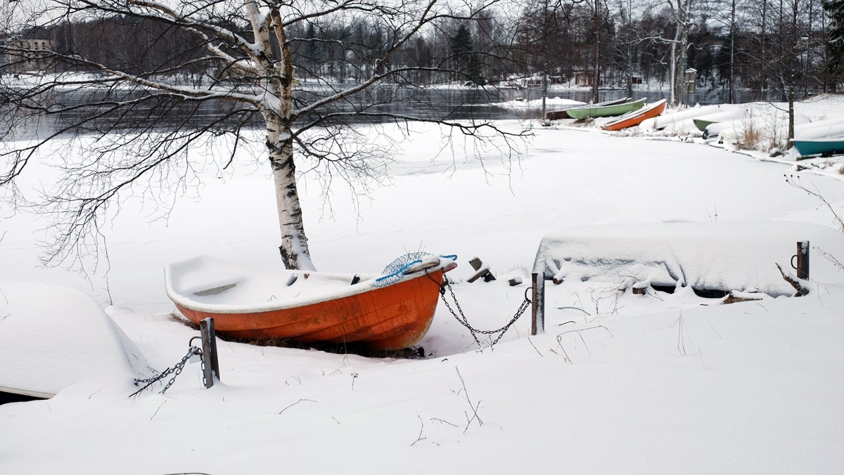
[[[306,105],[333,94],[325,86],[304,84],[295,94],[299,105]],[[126,100],[143,98],[145,91],[120,90],[76,90],[52,92],[42,99],[45,103],[63,107],[83,105],[92,100]],[[599,100],[621,99],[626,96],[625,89],[601,89]],[[668,99],[667,90],[636,89],[633,99],[647,98],[650,101]],[[592,100],[591,89],[550,89],[548,98],[561,98],[589,102]],[[698,91],[690,97],[691,104],[719,104],[726,102],[726,91]],[[363,123],[371,121],[394,121],[396,116],[413,116],[430,120],[500,120],[534,119],[541,116],[541,107],[521,107],[509,109],[493,104],[510,100],[540,100],[540,89],[525,88],[465,88],[465,89],[419,89],[383,84],[356,94],[347,100],[332,106],[329,112],[337,113],[331,123]],[[743,91],[737,94],[738,102],[758,100],[758,94]],[[771,98],[776,100],[776,98]],[[14,124],[16,138],[45,132],[61,132],[65,127],[79,121],[86,121],[85,126],[74,132],[103,132],[126,129],[165,129],[197,128],[219,121],[216,127],[262,127],[262,119],[257,111],[232,101],[213,100],[203,102],[173,102],[170,100],[150,99],[140,101],[130,111],[107,111],[108,106],[98,109],[82,107],[49,116],[31,116],[27,121]],[[553,105],[549,105],[553,110]],[[298,121],[299,126],[313,121],[316,116],[304,116]],[[0,121],[8,127],[12,115],[3,111]],[[4,127],[5,128],[5,127]],[[8,130],[8,128],[6,129]]]

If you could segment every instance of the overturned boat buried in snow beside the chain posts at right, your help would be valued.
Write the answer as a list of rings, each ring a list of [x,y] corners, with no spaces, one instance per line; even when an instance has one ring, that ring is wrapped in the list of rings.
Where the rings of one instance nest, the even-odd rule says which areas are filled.
[[[841,281],[844,273],[817,250],[844,256],[844,234],[790,222],[607,224],[545,235],[533,272],[557,280],[595,279],[619,285],[688,285],[694,289],[794,294],[776,268],[790,269],[797,241],[809,240],[810,278]]]

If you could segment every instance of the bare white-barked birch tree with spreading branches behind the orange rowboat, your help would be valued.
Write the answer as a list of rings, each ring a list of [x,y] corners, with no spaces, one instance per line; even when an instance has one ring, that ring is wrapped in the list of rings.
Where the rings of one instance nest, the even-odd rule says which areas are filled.
[[[35,26],[73,30],[74,25],[95,22],[153,22],[181,32],[195,45],[176,45],[171,57],[156,58],[154,67],[144,69],[122,61],[113,52],[122,46],[118,41],[99,46],[100,52],[112,51],[106,61],[79,52],[81,48],[74,47],[77,35],[68,32],[68,47],[51,52],[55,68],[88,75],[57,74],[24,89],[0,82],[0,100],[11,111],[4,132],[11,133],[19,126],[15,121],[27,114],[65,118],[75,114],[73,120],[62,122],[47,137],[18,148],[3,148],[0,186],[14,188],[37,151],[53,138],[80,131],[95,132],[100,137],[116,130],[129,131],[112,134],[106,146],[89,150],[87,158],[78,164],[65,165],[66,177],[57,187],[59,192],[51,197],[52,204],[62,207],[64,213],[51,257],[67,257],[68,250],[80,246],[85,235],[97,232],[103,210],[122,193],[144,180],[172,180],[174,173],[177,182],[185,181],[184,170],[190,168],[185,162],[188,147],[208,137],[230,134],[237,148],[243,140],[242,127],[257,123],[266,129],[265,150],[273,171],[284,265],[312,269],[296,185],[297,162],[310,159],[309,167],[320,163],[322,173],[328,176],[326,181],[335,173],[347,180],[377,180],[383,172],[378,165],[385,155],[371,146],[367,148],[365,138],[355,138],[358,132],[350,127],[350,120],[382,121],[387,117],[391,121],[438,121],[470,136],[503,133],[490,121],[441,120],[414,111],[376,107],[396,99],[394,95],[384,99],[382,91],[376,90],[379,84],[406,84],[408,78],[419,77],[419,72],[442,71],[446,69],[442,65],[449,63],[405,65],[395,61],[399,51],[413,46],[412,40],[442,19],[489,17],[498,1],[41,0],[36,3],[38,14],[24,15],[39,24],[23,22],[9,30],[21,33]],[[296,32],[337,22],[369,25],[381,36],[377,44],[367,46],[369,49],[355,55],[354,64],[349,64],[357,69],[354,75],[359,80],[354,84],[348,84],[345,78],[325,78],[321,71],[309,71],[309,63],[296,63],[297,48],[319,46],[324,41]],[[34,52],[8,45],[5,52],[13,58],[23,60]],[[342,46],[358,51],[364,48],[359,44]],[[203,78],[201,87],[171,80],[195,78],[197,71]],[[317,84],[310,89],[300,87],[299,74],[311,78],[309,84],[317,78]],[[344,75],[348,77],[349,73],[344,70]],[[82,102],[73,105],[50,100],[55,95],[52,93],[68,88],[97,92],[84,94]],[[212,101],[229,104],[225,116],[203,119],[203,104]],[[189,117],[165,132],[154,133],[160,130],[154,127],[160,124],[154,122],[176,109],[187,109]],[[138,115],[144,113],[147,120],[141,121]],[[103,118],[113,120],[114,125],[98,125],[97,120]],[[116,151],[121,151],[119,159]],[[232,152],[219,159],[225,164],[234,157]],[[181,164],[181,171],[174,172],[175,163]]]

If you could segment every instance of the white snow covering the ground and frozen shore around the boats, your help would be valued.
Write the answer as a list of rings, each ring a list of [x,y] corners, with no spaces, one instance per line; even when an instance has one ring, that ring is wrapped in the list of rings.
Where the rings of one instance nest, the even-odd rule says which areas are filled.
[[[839,104],[806,107],[844,118]],[[753,264],[770,273],[776,263],[790,269],[793,241],[808,239],[793,223],[837,227],[823,202],[784,175],[844,209],[835,159],[801,161],[809,168],[798,171],[791,154],[771,159],[682,134],[653,139],[570,125],[535,127],[513,160],[497,148],[480,150],[478,160],[458,143],[442,152],[439,129],[415,126],[391,165],[392,185],[357,204],[338,188],[326,206],[319,182],[304,178],[317,267],[377,273],[405,251],[457,254],[454,292],[473,327],[488,329],[513,316],[540,241],[565,235],[561,229],[600,224],[602,246],[615,234],[623,247],[625,232],[644,224],[761,222],[755,229],[774,229],[779,235],[768,237],[788,243],[776,254],[776,240],[766,239],[765,257]],[[833,165],[810,166],[820,160]],[[178,202],[167,220],[147,219],[149,203],[125,203],[104,229],[110,271],[100,262],[89,281],[39,267],[44,222],[3,208],[0,279],[83,290],[151,367],[165,370],[197,335],[170,317],[168,262],[208,254],[280,265],[273,186],[258,161],[201,171],[197,196]],[[746,245],[736,237],[723,246]],[[776,262],[765,262],[771,252]],[[498,279],[465,282],[473,256]],[[701,267],[709,257],[684,258]],[[164,395],[129,398],[137,390],[131,381],[95,380],[47,401],[0,406],[0,472],[838,473],[844,270],[814,249],[811,259],[824,272],[807,284],[808,296],[731,305],[688,288],[622,292],[618,275],[548,283],[546,332],[531,337],[524,316],[491,348],[479,348],[440,305],[420,343],[425,359],[221,341],[222,381],[210,390],[199,365],[189,364]],[[514,276],[526,283],[508,286]],[[96,344],[70,337],[80,348]],[[72,348],[24,342],[19,358],[57,345]]]

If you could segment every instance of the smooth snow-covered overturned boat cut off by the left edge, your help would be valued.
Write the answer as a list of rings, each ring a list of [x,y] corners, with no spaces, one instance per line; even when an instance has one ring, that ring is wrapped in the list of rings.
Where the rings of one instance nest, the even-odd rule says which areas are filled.
[[[128,391],[135,378],[151,375],[95,300],[23,280],[0,280],[0,362],[0,403],[47,399],[77,385]]]

